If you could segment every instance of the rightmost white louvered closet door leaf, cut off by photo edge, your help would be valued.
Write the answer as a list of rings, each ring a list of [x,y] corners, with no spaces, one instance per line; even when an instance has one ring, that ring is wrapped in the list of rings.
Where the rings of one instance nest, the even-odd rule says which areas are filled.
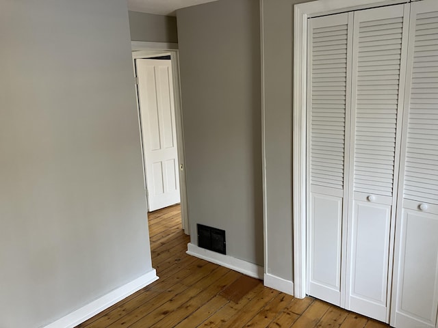
[[[391,325],[437,327],[438,1],[411,4]],[[406,117],[407,116],[407,117]]]

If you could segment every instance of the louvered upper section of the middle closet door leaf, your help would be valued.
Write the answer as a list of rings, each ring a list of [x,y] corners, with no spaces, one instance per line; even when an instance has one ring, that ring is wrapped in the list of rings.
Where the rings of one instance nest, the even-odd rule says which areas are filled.
[[[354,191],[392,196],[403,18],[359,23]]]

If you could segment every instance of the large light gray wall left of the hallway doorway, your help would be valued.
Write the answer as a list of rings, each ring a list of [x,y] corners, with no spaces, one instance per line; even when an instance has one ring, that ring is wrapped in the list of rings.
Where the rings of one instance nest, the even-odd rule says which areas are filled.
[[[151,271],[127,5],[0,0],[0,326]]]

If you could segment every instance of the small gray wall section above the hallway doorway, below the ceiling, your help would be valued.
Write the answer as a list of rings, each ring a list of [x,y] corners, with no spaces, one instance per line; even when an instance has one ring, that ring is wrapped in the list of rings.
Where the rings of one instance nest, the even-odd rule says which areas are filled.
[[[178,42],[176,17],[130,11],[129,27],[132,41]]]

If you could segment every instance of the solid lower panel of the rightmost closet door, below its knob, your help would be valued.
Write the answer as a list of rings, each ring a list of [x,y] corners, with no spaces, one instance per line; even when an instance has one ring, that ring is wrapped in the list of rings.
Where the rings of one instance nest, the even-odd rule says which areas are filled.
[[[400,226],[396,316],[391,325],[436,327],[438,215],[404,209]]]

